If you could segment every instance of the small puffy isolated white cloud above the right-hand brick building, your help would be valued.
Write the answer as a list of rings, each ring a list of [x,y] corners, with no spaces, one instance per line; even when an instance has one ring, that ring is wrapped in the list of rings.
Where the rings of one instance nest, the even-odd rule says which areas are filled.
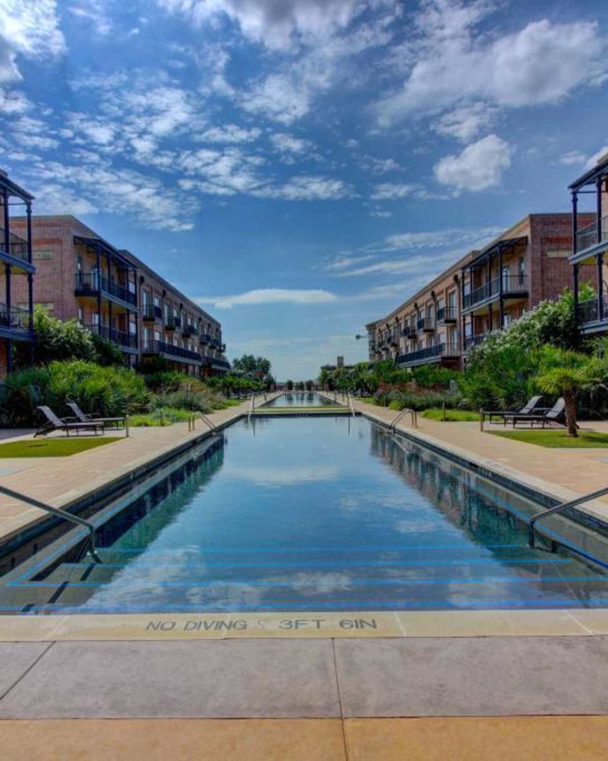
[[[460,190],[485,190],[499,185],[511,166],[511,146],[497,135],[471,143],[461,154],[445,156],[435,164],[435,179]]]

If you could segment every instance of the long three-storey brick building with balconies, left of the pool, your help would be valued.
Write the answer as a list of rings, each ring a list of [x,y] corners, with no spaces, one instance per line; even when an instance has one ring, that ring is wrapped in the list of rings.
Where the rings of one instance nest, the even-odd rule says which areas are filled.
[[[17,232],[25,225],[13,222]],[[220,323],[137,256],[71,215],[35,216],[31,226],[33,301],[53,317],[77,318],[116,343],[130,366],[161,357],[189,374],[230,369]],[[15,297],[25,298],[23,289]]]

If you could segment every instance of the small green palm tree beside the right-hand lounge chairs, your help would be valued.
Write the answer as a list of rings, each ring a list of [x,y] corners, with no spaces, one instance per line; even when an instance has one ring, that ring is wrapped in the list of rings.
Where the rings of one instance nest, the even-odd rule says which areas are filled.
[[[568,437],[578,437],[577,395],[581,390],[606,387],[608,362],[579,352],[569,352],[546,345],[536,382],[539,389],[551,396],[562,396]]]

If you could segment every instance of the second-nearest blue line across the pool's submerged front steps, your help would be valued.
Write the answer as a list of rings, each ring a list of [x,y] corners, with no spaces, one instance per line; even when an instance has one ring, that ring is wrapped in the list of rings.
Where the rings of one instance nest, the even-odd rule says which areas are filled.
[[[138,589],[142,587],[290,587],[294,590],[299,587],[316,587],[318,582],[305,581],[294,584],[293,581],[218,581],[213,579],[210,581],[148,581],[147,579],[131,579],[131,584],[136,584]],[[353,587],[391,587],[391,586],[408,586],[410,584],[493,584],[493,583],[505,583],[505,584],[549,584],[556,581],[596,581],[590,579],[588,576],[547,576],[546,578],[521,578],[521,576],[484,576],[482,578],[412,578],[412,579],[370,579],[368,580],[347,580],[346,583]],[[608,578],[602,579],[608,584]],[[38,588],[52,588],[56,589],[62,584],[59,581],[30,581],[23,584],[11,584],[12,587],[19,587],[21,589],[38,589]],[[69,589],[75,587],[84,587],[97,589],[97,587],[110,587],[114,584],[113,581],[68,581]],[[120,589],[120,587],[119,587]],[[323,594],[319,592],[318,594]]]

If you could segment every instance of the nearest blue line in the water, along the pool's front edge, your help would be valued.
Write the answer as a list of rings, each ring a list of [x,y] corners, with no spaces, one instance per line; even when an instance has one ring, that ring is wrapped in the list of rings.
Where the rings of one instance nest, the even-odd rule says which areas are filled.
[[[287,607],[286,607],[287,606]],[[33,611],[40,610],[45,611],[48,610],[52,612],[53,610],[62,610],[64,613],[73,610],[74,613],[81,614],[83,616],[91,615],[93,613],[147,613],[150,616],[162,616],[164,613],[199,613],[201,615],[220,615],[222,613],[263,613],[263,612],[278,612],[278,613],[285,613],[285,615],[289,615],[290,611],[292,610],[302,610],[302,611],[309,611],[310,613],[315,613],[318,610],[327,610],[328,613],[331,613],[332,610],[348,610],[350,611],[369,611],[373,612],[375,610],[391,610],[394,612],[399,612],[400,610],[423,610],[425,608],[440,608],[442,610],[470,610],[471,608],[485,608],[487,610],[492,610],[495,608],[509,608],[511,610],[521,610],[523,608],[579,608],[579,609],[585,609],[585,610],[594,610],[594,608],[604,608],[608,607],[608,598],[605,600],[594,600],[593,605],[581,605],[581,603],[573,597],[558,597],[558,598],[552,598],[551,600],[547,600],[545,597],[526,597],[523,600],[468,600],[466,604],[462,605],[451,605],[450,603],[445,602],[445,600],[437,600],[437,601],[426,601],[426,602],[420,602],[420,603],[404,603],[404,602],[385,602],[385,601],[365,601],[362,602],[361,600],[353,600],[347,603],[287,603],[285,600],[279,601],[277,603],[260,603],[255,608],[250,608],[249,610],[247,608],[242,607],[242,603],[236,603],[234,607],[224,607],[222,609],[215,609],[215,610],[204,610],[201,609],[200,604],[192,604],[192,605],[164,605],[161,610],[154,610],[150,609],[150,607],[146,607],[144,605],[128,605],[128,606],[107,606],[107,607],[76,607],[74,605],[66,605],[64,603],[47,603],[46,605],[33,605],[28,613],[24,613],[24,616],[32,615]],[[5,611],[21,611],[23,610],[23,606],[21,605],[13,605],[13,606],[2,606],[0,607],[0,610]],[[1,621],[0,621],[1,622]]]

